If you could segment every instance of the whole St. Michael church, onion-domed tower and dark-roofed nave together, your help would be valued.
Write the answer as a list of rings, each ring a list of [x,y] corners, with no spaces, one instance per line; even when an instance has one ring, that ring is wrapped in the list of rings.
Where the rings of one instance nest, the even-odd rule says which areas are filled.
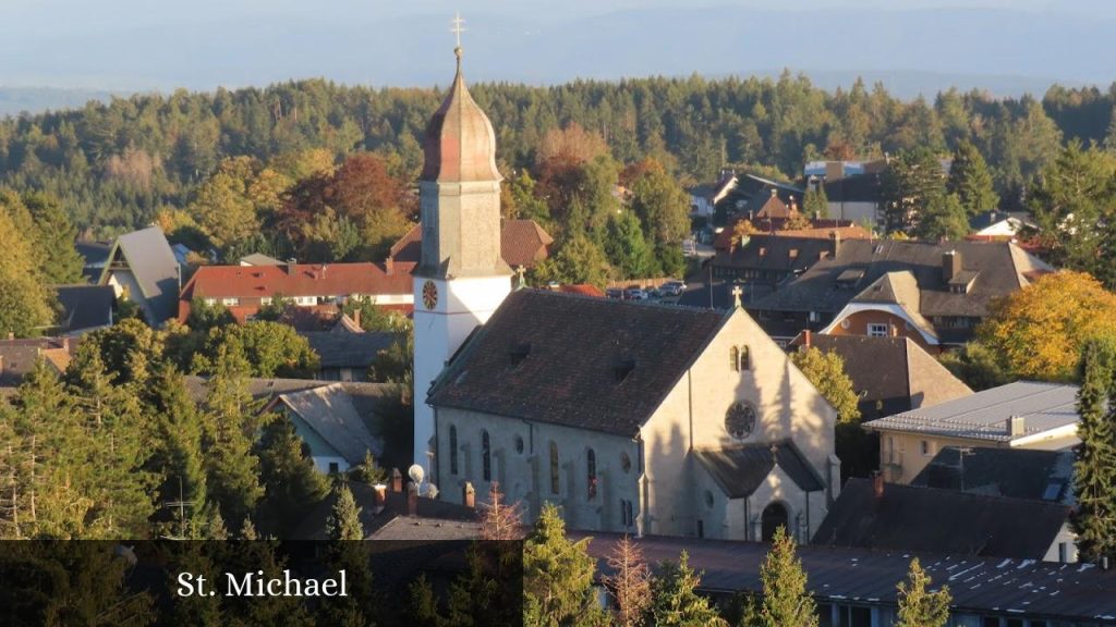
[[[739,306],[512,289],[492,124],[458,71],[426,131],[414,272],[414,460],[533,520],[806,542],[837,496],[837,414]]]

